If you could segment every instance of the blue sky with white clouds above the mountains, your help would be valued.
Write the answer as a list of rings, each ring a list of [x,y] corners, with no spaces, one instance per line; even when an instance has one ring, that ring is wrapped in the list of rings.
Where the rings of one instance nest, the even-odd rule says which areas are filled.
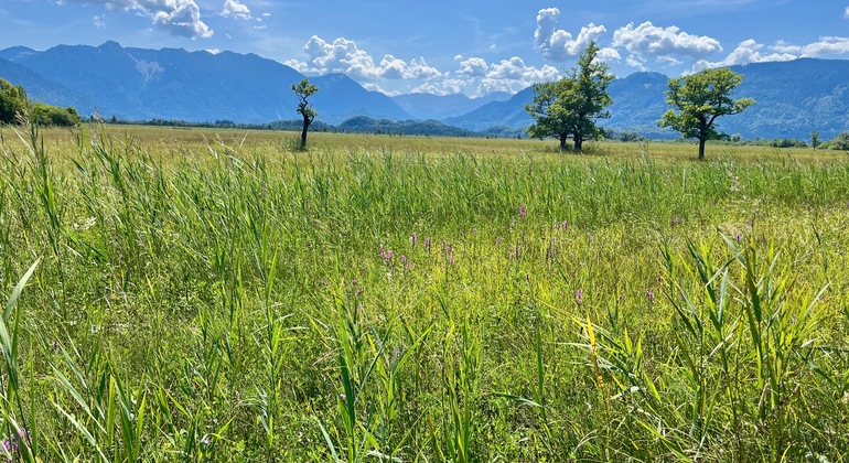
[[[849,58],[849,0],[0,0],[0,50],[255,53],[387,95],[516,93],[594,40],[617,77]]]

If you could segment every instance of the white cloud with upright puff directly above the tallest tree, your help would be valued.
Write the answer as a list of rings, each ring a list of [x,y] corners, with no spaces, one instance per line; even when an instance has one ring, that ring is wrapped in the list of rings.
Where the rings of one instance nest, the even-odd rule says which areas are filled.
[[[581,28],[577,37],[562,29],[557,29],[560,10],[546,8],[537,13],[537,30],[534,32],[534,47],[547,60],[563,62],[580,54],[591,41],[608,31],[603,25],[590,23]],[[620,60],[615,49],[602,49],[599,57],[605,61]]]

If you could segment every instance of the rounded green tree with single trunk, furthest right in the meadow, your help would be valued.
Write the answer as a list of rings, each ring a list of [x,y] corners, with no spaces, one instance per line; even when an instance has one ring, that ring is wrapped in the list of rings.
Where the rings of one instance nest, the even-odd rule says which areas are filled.
[[[731,99],[743,76],[729,68],[705,69],[681,78],[670,78],[666,91],[669,109],[657,125],[671,127],[684,138],[699,140],[699,159],[705,158],[705,143],[728,137],[717,130],[714,122],[722,116],[737,115],[754,105],[751,98]]]

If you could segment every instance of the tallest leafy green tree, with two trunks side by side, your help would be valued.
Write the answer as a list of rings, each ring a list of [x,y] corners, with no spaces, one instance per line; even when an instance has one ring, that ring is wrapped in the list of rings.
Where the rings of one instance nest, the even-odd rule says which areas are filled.
[[[602,131],[595,119],[610,118],[606,108],[613,103],[608,87],[614,76],[606,63],[597,61],[599,47],[590,42],[578,58],[578,66],[556,83],[534,86],[534,100],[525,110],[534,118],[528,128],[531,137],[555,137],[560,149],[572,138],[574,150],[581,151],[585,140],[597,140]]]

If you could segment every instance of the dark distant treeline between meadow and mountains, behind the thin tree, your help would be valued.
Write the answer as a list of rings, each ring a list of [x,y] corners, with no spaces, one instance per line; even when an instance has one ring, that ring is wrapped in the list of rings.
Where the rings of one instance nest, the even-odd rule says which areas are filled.
[[[92,121],[98,120],[95,117]],[[232,120],[216,120],[214,122],[194,122],[187,120],[174,119],[150,119],[150,120],[122,120],[112,116],[104,120],[106,123],[122,123],[135,126],[155,126],[155,127],[198,127],[214,129],[245,129],[245,130],[286,130],[300,131],[303,121],[299,119],[276,120],[267,123],[240,123]],[[474,138],[525,138],[527,133],[524,130],[513,129],[506,126],[494,127],[485,131],[472,131],[454,126],[447,126],[438,120],[402,120],[395,121],[390,119],[373,119],[367,116],[355,116],[333,126],[322,121],[314,121],[310,125],[310,130],[315,132],[332,133],[374,133],[391,136],[426,136],[426,137],[474,137]]]

